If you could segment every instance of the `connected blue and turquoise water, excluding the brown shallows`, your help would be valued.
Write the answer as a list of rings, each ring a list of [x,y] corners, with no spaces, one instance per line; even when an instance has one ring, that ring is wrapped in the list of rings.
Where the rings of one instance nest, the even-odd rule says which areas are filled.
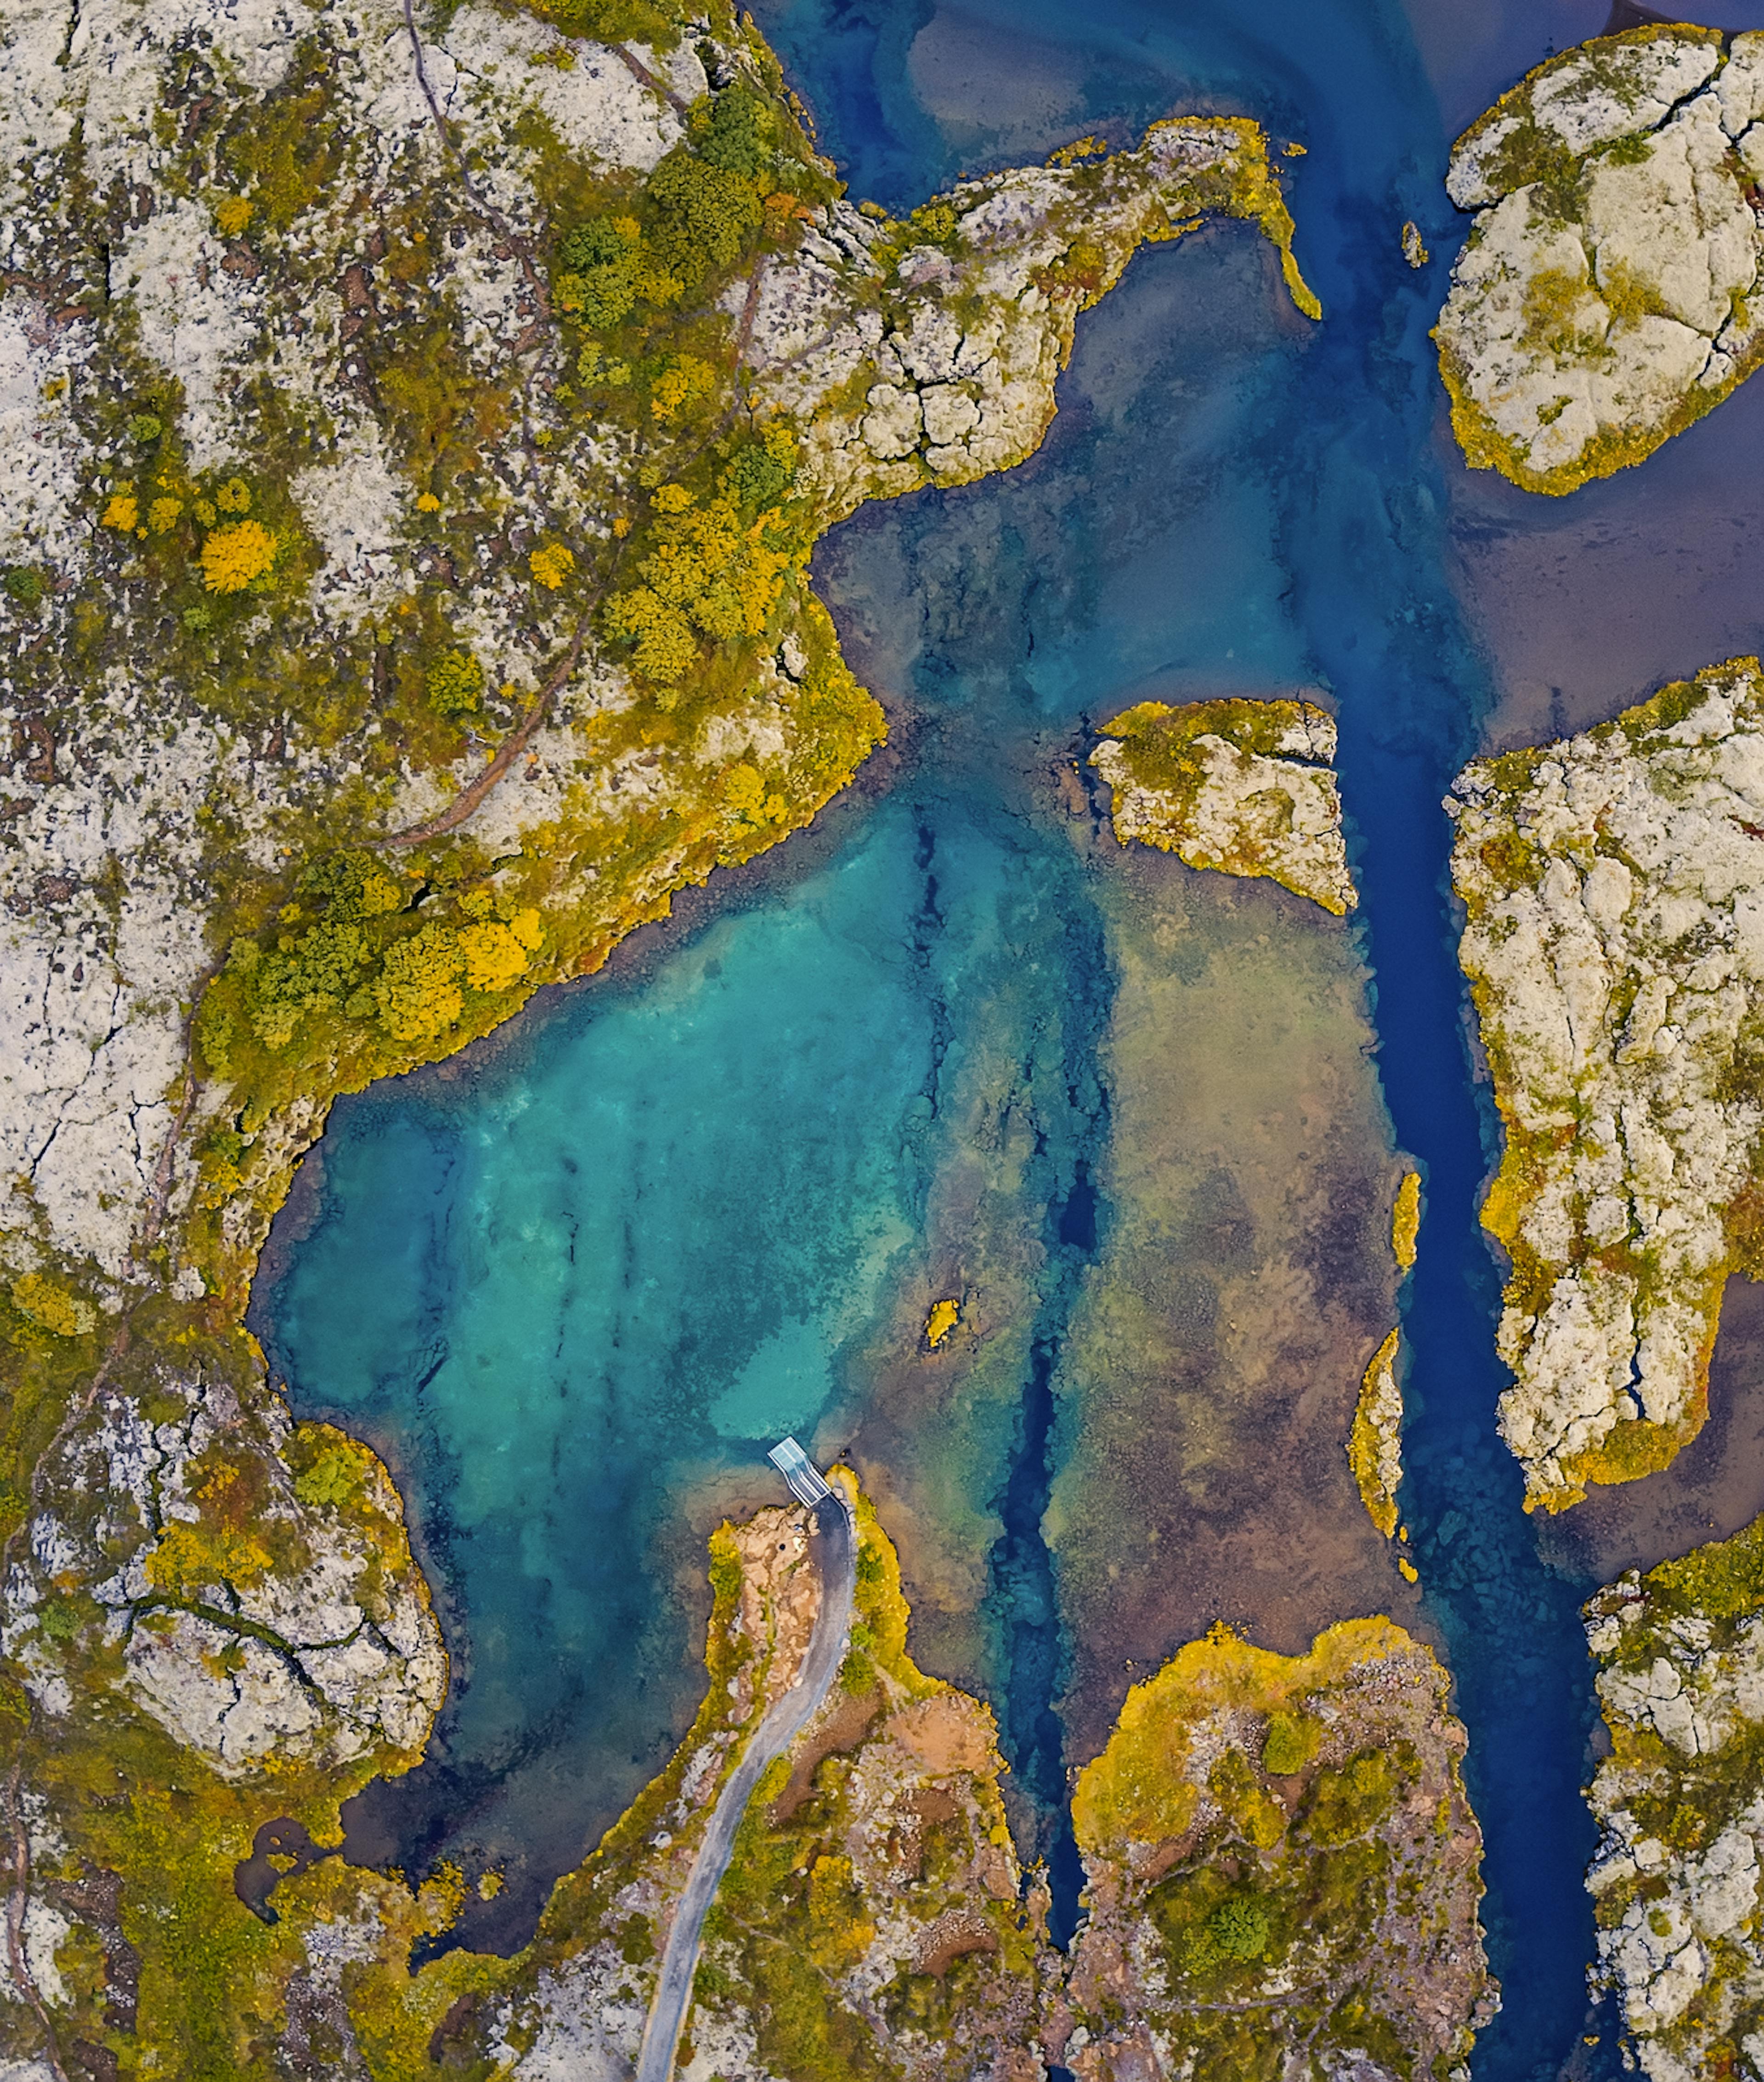
[[[981,1557],[973,1614],[927,1611],[927,1639],[1000,1709],[1068,1926],[1054,1713],[1068,1643],[1039,1526],[1050,1374],[1110,1224],[1095,1178],[1112,972],[1056,777],[1085,718],[1145,693],[1322,685],[1385,1101],[1427,1170],[1404,1514],[1487,1836],[1506,2007],[1475,2074],[1558,2076],[1570,2057],[1577,2076],[1614,2072],[1608,2032],[1583,2045],[1608,2022],[1589,2022],[1585,1992],[1583,1586],[1541,1566],[1493,1430],[1497,1274],[1475,1220],[1489,1120],[1439,810],[1500,735],[1514,681],[1506,595],[1479,591],[1466,558],[1554,520],[1470,485],[1427,341],[1460,239],[1450,137],[1604,10],[758,0],[756,15],[852,192],[896,210],[1083,131],[1125,142],[1183,108],[1258,117],[1306,146],[1285,164],[1327,321],[1281,312],[1243,227],[1135,260],[1083,321],[1041,456],[871,508],[823,545],[854,662],[904,704],[889,785],[616,974],[552,993],[502,1045],[337,1108],[310,1233],[260,1293],[258,1326],[300,1414],[350,1424],[394,1464],[456,1657],[435,1755],[360,1803],[356,1851],[504,1868],[506,1893],[464,1936],[525,1936],[689,1718],[706,1528],[768,1495],[760,1455],[781,1430],[818,1428],[831,1449],[864,1420],[875,1351],[937,1289],[921,1239],[989,1106],[1010,1158],[989,1220],[1023,1268],[1023,1337],[1002,1347],[1004,1387],[960,1422],[912,1432],[908,1410],[900,1451],[918,1495],[941,1482],[952,1543]],[[1425,271],[1402,260],[1404,219],[1433,248]],[[1674,452],[1718,504],[1724,485],[1741,498],[1741,464],[1722,458],[1752,456],[1760,431],[1741,396]],[[1608,531],[1645,527],[1645,473],[1595,498]],[[1597,545],[1570,556],[1591,585]],[[1677,670],[1722,654],[1668,608],[1658,623]],[[1595,706],[1639,697],[1637,670]]]

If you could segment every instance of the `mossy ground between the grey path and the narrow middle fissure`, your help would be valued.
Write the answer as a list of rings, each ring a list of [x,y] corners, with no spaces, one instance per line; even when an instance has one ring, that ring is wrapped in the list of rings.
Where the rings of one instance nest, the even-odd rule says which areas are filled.
[[[706,2026],[756,2030],[764,2067],[802,2082],[1027,2047],[1052,1959],[1045,1897],[1018,1899],[993,1718],[906,1653],[900,1564],[856,1503],[841,1684],[748,1807],[698,1974]]]

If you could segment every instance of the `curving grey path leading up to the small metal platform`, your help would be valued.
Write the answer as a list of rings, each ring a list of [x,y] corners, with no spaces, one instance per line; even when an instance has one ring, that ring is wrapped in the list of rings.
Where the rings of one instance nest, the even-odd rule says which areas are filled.
[[[766,1766],[802,1734],[846,1661],[852,1595],[858,1586],[858,1526],[841,1489],[814,1507],[814,1530],[821,1545],[821,1614],[802,1659],[802,1674],[754,1730],[748,1755],[735,1766],[735,1774],[710,1816],[669,1930],[662,1972],[637,2053],[635,2082],[673,2082],[675,2049],[691,2007],[691,1978],[698,1972],[698,1938],[704,1930],[706,1909],[716,1899],[716,1886],[729,1870],[735,1830],[741,1826],[741,1816],[748,1811],[748,1801]]]

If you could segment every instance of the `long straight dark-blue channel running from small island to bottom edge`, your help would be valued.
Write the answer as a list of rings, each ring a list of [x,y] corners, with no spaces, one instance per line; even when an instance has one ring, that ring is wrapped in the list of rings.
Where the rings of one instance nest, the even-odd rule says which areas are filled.
[[[1552,1574],[1522,1509],[1518,1464],[1495,1428],[1506,1385],[1493,1355],[1500,1272],[1477,1208],[1491,1162],[1468,1083],[1464,983],[1454,958],[1439,812],[1427,756],[1391,752],[1352,722],[1343,781],[1366,839],[1362,895],[1377,970],[1375,1020],[1397,1141],[1422,1160],[1427,1214],[1406,1297],[1410,1382],[1400,1507],[1470,1734],[1466,1786],[1483,1824],[1483,1922],[1504,1982],[1481,2034],[1477,2082],[1614,2076],[1610,2015],[1589,2005],[1595,1826],[1581,1797],[1597,1713],[1579,1624],[1585,1584]],[[1572,2070],[1560,2063],[1572,2053]]]

